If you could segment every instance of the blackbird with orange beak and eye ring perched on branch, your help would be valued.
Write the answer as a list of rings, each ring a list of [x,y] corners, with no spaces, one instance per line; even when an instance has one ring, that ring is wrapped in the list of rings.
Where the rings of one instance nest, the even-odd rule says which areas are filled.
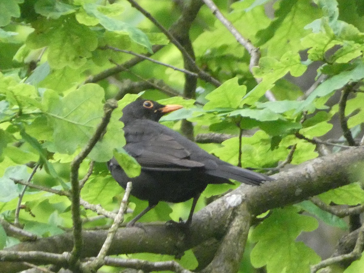
[[[179,203],[193,198],[187,227],[192,220],[197,200],[207,184],[229,183],[229,178],[260,185],[272,180],[268,176],[242,169],[202,150],[196,143],[158,123],[165,114],[181,105],[162,105],[153,100],[135,100],[123,108],[124,149],[141,165],[141,174],[129,178],[115,158],[108,163],[112,177],[126,188],[132,182],[131,194],[148,201],[148,206],[127,226],[153,209],[159,201]]]

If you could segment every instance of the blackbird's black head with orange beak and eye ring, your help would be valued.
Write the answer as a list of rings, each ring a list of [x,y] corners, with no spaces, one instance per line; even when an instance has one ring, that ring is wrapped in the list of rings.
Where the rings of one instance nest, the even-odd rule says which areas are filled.
[[[158,122],[165,114],[181,109],[178,104],[163,105],[154,100],[137,99],[123,108],[120,120],[124,123],[135,119],[150,119]]]

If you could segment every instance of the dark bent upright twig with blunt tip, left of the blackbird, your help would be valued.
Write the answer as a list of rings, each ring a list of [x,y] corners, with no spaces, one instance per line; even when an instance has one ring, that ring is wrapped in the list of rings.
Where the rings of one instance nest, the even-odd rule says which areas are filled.
[[[78,181],[79,168],[82,161],[91,152],[92,148],[99,141],[107,124],[110,121],[112,111],[118,107],[118,103],[114,99],[109,99],[104,104],[104,116],[97,126],[94,135],[92,135],[87,145],[83,147],[78,155],[71,162],[71,213],[73,221],[73,237],[74,237],[74,248],[71,252],[70,266],[74,268],[77,261],[79,261],[81,250],[82,250],[82,220],[80,214],[80,186]]]

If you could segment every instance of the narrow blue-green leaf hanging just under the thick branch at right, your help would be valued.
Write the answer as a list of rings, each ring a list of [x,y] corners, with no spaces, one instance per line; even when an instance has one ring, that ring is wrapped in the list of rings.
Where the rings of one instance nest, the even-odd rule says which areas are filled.
[[[315,215],[317,218],[321,219],[324,223],[330,225],[339,227],[342,230],[348,230],[348,224],[341,218],[337,217],[336,215],[333,215],[327,211],[324,211],[320,209],[318,206],[316,206],[311,201],[302,201],[294,206],[300,207],[304,209],[305,211]]]

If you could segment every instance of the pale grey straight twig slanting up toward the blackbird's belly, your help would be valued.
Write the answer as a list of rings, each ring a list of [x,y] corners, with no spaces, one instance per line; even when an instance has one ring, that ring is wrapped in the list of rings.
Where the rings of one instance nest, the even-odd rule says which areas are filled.
[[[124,197],[120,204],[118,214],[116,215],[114,222],[112,223],[112,225],[107,233],[106,240],[105,240],[104,244],[102,245],[98,256],[90,264],[85,265],[87,268],[90,268],[92,272],[96,272],[101,266],[103,266],[104,258],[106,257],[106,254],[107,254],[108,250],[110,249],[112,240],[114,239],[114,236],[115,236],[116,232],[118,231],[119,223],[124,221],[124,211],[128,204],[128,199],[129,199],[131,188],[132,188],[131,182],[128,182],[126,185]]]

